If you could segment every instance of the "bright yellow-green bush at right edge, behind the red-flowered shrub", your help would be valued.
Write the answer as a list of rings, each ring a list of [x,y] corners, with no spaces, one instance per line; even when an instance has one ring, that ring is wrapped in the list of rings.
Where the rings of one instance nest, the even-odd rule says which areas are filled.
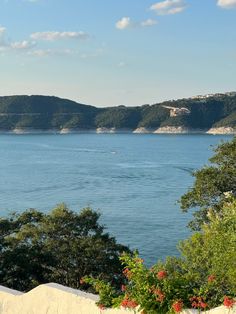
[[[211,299],[220,301],[224,295],[236,296],[236,198],[229,196],[220,214],[211,212],[209,223],[179,245],[182,269],[204,291],[209,275],[214,276]],[[205,290],[204,290],[205,289]]]

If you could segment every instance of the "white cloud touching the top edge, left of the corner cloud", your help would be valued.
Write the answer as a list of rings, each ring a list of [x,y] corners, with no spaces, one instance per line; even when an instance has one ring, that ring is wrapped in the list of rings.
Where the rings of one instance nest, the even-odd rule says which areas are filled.
[[[168,15],[181,13],[186,8],[184,0],[165,0],[154,3],[150,10],[155,11],[158,15]]]

